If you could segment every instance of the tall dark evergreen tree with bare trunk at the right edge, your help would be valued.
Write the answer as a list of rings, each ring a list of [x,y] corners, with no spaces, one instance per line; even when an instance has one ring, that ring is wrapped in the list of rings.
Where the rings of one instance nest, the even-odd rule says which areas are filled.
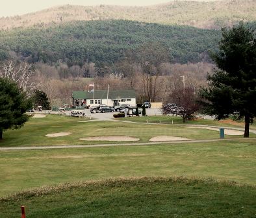
[[[208,114],[223,119],[230,114],[244,118],[244,137],[256,115],[256,39],[255,30],[244,23],[222,29],[218,53],[212,59],[218,66],[209,76],[209,88],[201,90]]]

